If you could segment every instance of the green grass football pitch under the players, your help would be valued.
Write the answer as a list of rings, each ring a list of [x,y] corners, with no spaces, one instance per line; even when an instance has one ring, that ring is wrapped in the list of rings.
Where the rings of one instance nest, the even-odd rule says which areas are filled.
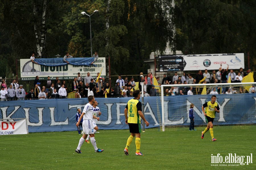
[[[135,140],[129,156],[123,150],[129,130],[99,130],[95,139],[104,149],[95,153],[92,144],[84,143],[82,154],[75,149],[80,135],[77,131],[30,133],[0,136],[0,169],[256,169],[256,126],[215,126],[201,139],[201,131],[172,128],[160,132],[146,129],[141,133],[141,152],[135,156]],[[211,154],[229,153],[239,156],[253,154],[249,165],[213,167]]]

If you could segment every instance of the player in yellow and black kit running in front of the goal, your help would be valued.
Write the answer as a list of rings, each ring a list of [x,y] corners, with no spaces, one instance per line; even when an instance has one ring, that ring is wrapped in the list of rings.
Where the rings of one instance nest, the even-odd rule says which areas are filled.
[[[212,95],[211,97],[211,101],[207,101],[205,104],[203,104],[202,106],[202,111],[205,115],[205,119],[207,121],[207,127],[205,128],[204,131],[202,131],[202,136],[201,138],[204,138],[205,133],[210,130],[210,134],[212,137],[212,141],[216,141],[217,139],[215,139],[213,137],[213,120],[215,118],[215,114],[216,112],[220,112],[220,107],[218,105],[218,103],[216,102],[216,95]]]

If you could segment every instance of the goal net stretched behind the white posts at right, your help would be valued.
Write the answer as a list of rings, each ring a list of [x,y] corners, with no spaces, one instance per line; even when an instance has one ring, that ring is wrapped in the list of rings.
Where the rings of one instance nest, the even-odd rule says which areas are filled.
[[[194,105],[194,126],[206,126],[202,105],[216,95],[220,112],[214,125],[241,125],[256,123],[256,82],[161,85],[158,116],[160,130],[189,127],[189,109]],[[193,94],[193,95],[192,95]]]

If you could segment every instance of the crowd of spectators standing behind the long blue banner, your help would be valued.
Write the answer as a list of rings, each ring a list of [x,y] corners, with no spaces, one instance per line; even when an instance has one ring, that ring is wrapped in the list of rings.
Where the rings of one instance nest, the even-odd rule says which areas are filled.
[[[164,96],[195,95],[201,94],[203,87],[199,88],[198,86],[189,86],[189,84],[227,83],[229,77],[232,83],[241,82],[243,77],[248,75],[250,72],[251,70],[248,69],[247,72],[244,73],[242,68],[240,68],[237,73],[235,73],[232,69],[230,72],[228,72],[228,65],[226,69],[223,69],[222,65],[220,65],[219,70],[217,72],[213,70],[211,74],[207,69],[205,69],[204,73],[199,70],[194,77],[190,73],[187,74],[183,72],[182,75],[178,75],[178,73],[175,72],[173,76],[167,76],[164,74],[162,82],[160,82],[159,77],[156,77],[156,81],[158,87],[160,87],[161,84],[187,84],[187,86],[180,87],[165,87]],[[107,97],[133,96],[133,90],[135,90],[136,86],[134,78],[128,79],[128,77],[125,77],[123,79],[121,76],[118,76],[118,79],[115,81],[115,86],[110,87],[109,82],[106,81],[104,77],[99,77],[98,80],[97,77],[94,79],[89,72],[87,73],[87,76],[84,77],[78,73],[71,83],[71,90],[75,93],[75,98],[87,98],[88,95],[94,95],[95,97],[105,97],[105,95]],[[200,82],[200,80],[203,81]],[[6,84],[5,80],[2,80],[0,91],[1,101],[67,98],[68,88],[66,86],[65,80],[61,81],[58,77],[56,77],[55,80],[51,80],[48,76],[44,84],[45,86],[41,84],[39,77],[36,76],[34,80],[34,87],[32,87],[30,91],[26,93],[23,89],[23,85],[19,85],[16,80],[13,80],[13,82],[9,85]],[[155,83],[152,73],[148,73],[146,76],[144,76],[143,73],[140,73],[139,83],[137,86],[139,86],[140,91],[142,88],[144,88],[145,97],[161,95],[159,88],[156,88],[153,84]],[[220,88],[220,86],[211,86],[207,89],[207,94],[212,95],[234,93],[255,93],[255,86],[251,86],[249,91],[246,91],[243,87]]]

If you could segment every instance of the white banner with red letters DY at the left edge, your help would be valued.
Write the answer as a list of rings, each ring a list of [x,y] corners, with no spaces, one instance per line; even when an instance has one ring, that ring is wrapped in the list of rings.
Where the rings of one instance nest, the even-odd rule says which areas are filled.
[[[0,120],[0,135],[28,134],[26,119],[9,122]]]

